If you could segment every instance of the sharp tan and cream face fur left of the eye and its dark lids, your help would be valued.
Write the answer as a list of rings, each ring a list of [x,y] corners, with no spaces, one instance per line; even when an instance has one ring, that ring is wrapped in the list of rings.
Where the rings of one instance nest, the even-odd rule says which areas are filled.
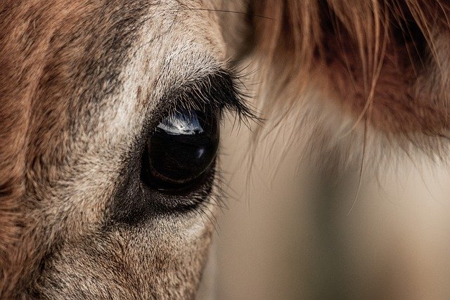
[[[195,292],[212,202],[205,216],[108,225],[124,154],[146,113],[168,89],[223,63],[214,18],[188,8],[176,1],[1,3],[1,298]],[[203,27],[210,30],[195,29]]]

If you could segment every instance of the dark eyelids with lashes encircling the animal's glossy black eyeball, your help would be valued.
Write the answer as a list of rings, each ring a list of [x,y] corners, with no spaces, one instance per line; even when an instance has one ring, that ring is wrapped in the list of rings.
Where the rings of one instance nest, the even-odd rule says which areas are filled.
[[[186,190],[184,195],[162,194],[158,190],[143,186],[141,181],[142,157],[145,151],[146,137],[151,136],[158,124],[167,116],[176,112],[182,113],[190,110],[200,110],[217,114],[219,122],[222,122],[224,112],[229,111],[236,115],[239,122],[248,124],[250,120],[259,120],[256,113],[245,104],[245,93],[239,89],[236,82],[238,77],[233,77],[228,72],[219,72],[217,75],[207,77],[203,81],[196,81],[181,89],[174,89],[173,93],[167,94],[160,103],[161,106],[152,112],[152,119],[144,126],[141,138],[136,140],[139,152],[131,159],[131,170],[128,181],[117,191],[117,201],[113,205],[112,219],[120,223],[135,223],[141,219],[151,218],[152,214],[179,214],[190,212],[193,214],[206,215],[209,204],[222,207],[224,204],[224,193],[221,185],[220,171],[217,165],[213,165],[202,185],[193,190]],[[139,162],[139,163],[136,163]],[[135,172],[139,175],[135,175]],[[130,188],[131,187],[131,188]],[[131,193],[131,194],[130,194]],[[148,202],[148,197],[155,197],[159,202]],[[133,199],[132,202],[124,202],[121,199]],[[171,208],[172,207],[172,208]]]

